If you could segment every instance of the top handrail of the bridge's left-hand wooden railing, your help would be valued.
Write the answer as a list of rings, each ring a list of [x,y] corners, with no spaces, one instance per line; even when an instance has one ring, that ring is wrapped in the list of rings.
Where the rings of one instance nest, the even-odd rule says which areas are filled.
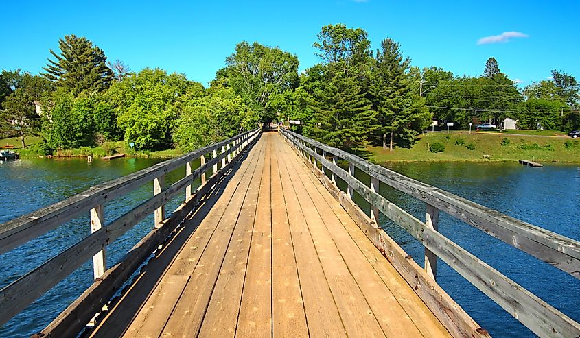
[[[106,204],[106,202],[116,197],[133,191],[139,188],[139,186],[152,181],[154,178],[173,171],[203,154],[213,152],[213,150],[222,147],[222,145],[227,145],[237,138],[255,135],[257,132],[259,130],[244,132],[243,134],[234,136],[220,143],[203,147],[179,158],[167,160],[128,176],[98,184],[78,195],[69,197],[67,200],[0,224],[0,254],[44,234],[60,224],[75,219],[82,213],[88,212],[94,206]]]

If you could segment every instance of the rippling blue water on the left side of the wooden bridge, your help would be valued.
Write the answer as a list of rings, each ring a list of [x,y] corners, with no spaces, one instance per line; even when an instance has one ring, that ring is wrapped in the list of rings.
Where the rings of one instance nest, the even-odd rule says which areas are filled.
[[[94,160],[91,163],[84,159],[34,159],[5,162],[0,165],[0,224],[38,208],[49,206],[96,184],[128,175],[160,161],[120,158],[111,161]],[[185,167],[166,175],[166,184],[170,185],[183,176],[185,176]],[[104,212],[106,224],[152,197],[152,191],[153,186],[150,183],[128,195],[108,202]],[[174,210],[184,197],[185,193],[170,202],[166,208],[167,212]],[[152,229],[152,224],[153,219],[150,216],[109,245],[107,265],[112,266],[128,252]],[[87,213],[20,248],[0,255],[0,288],[80,241],[90,234],[90,229]],[[0,328],[0,337],[27,337],[38,332],[89,287],[92,280],[93,267],[89,260]]]

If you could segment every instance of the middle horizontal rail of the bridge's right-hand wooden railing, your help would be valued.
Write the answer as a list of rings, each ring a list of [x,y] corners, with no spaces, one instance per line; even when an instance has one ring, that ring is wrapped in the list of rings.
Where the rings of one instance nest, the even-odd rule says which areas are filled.
[[[295,144],[304,152],[316,158],[316,160],[321,161],[323,166],[345,180],[349,189],[360,193],[372,206],[377,206],[389,219],[402,226],[413,237],[421,241],[430,252],[437,254],[445,263],[448,263],[513,317],[533,330],[534,333],[541,337],[551,335],[575,337],[580,335],[580,324],[537,298],[537,296],[513,282],[513,280],[500,274],[496,269],[489,267],[489,265],[483,263],[483,261],[480,261],[439,232],[426,226],[423,222],[386,200],[382,195],[354,178],[351,175],[352,170],[347,173],[326,160],[326,158],[313,152],[310,148],[299,143]],[[310,164],[310,161],[308,163]],[[349,196],[351,194],[351,191],[349,191]],[[485,282],[484,280],[491,282]]]

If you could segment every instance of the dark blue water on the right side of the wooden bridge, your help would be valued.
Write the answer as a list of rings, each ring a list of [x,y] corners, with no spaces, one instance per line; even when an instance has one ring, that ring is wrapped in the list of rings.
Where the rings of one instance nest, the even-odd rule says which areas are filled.
[[[580,240],[579,165],[532,168],[506,163],[393,163],[386,167],[535,226]],[[386,186],[381,186],[381,192],[415,217],[425,218],[423,202]],[[439,215],[439,231],[446,237],[580,322],[580,280],[445,213]],[[386,232],[422,266],[424,247],[388,219],[381,221]],[[437,282],[492,336],[535,337],[452,268],[441,260],[438,264]]]

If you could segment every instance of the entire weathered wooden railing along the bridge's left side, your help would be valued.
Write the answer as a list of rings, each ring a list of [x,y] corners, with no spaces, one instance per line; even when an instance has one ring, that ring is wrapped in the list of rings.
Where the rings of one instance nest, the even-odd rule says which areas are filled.
[[[45,335],[50,334],[51,337],[78,333],[155,248],[167,239],[187,213],[211,191],[222,176],[227,174],[233,163],[241,158],[242,152],[250,149],[248,146],[255,143],[259,134],[259,129],[244,132],[179,158],[93,186],[67,200],[0,224],[0,254],[2,254],[71,219],[87,213],[91,215],[89,236],[0,290],[0,326],[92,257],[95,282],[43,331]],[[209,154],[211,158],[207,159]],[[192,171],[192,162],[198,159],[200,167]],[[218,170],[220,161],[221,167]],[[183,166],[186,169],[185,178],[165,187],[165,174]],[[211,173],[209,178],[207,172]],[[192,191],[192,183],[200,177],[201,186]],[[111,223],[104,224],[103,215],[107,202],[152,181],[153,197]],[[170,217],[165,218],[165,204],[183,190],[185,202]],[[121,258],[119,263],[107,269],[106,246],[152,213],[154,213],[153,230]]]

